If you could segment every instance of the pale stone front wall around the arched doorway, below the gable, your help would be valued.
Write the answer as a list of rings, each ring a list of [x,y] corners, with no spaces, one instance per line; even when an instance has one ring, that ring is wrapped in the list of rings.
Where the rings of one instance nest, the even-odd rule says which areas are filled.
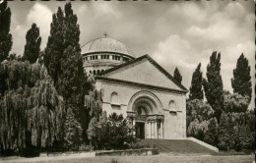
[[[131,97],[138,91],[147,90],[154,93],[159,99],[163,108],[163,138],[183,138],[186,137],[186,96],[185,94],[160,91],[156,89],[145,89],[135,85],[125,85],[108,81],[96,81],[96,88],[103,88],[102,109],[107,115],[115,112],[127,116],[127,106]],[[117,92],[120,105],[111,105],[111,93]],[[169,113],[169,101],[173,100],[176,104],[176,111]]]

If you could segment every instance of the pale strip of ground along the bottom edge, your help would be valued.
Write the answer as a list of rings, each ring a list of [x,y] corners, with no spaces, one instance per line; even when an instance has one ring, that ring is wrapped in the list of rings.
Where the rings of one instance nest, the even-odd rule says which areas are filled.
[[[52,162],[52,163],[252,163],[254,155],[229,155],[229,156],[211,156],[211,155],[170,155],[163,153],[155,156],[99,156],[99,157],[79,157],[79,156],[54,156],[54,157],[34,157],[8,159],[3,162]],[[1,162],[1,161],[0,161]]]

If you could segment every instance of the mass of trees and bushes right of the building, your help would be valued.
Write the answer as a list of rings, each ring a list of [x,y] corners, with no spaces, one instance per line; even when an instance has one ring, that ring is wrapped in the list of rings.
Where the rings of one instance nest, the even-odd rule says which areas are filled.
[[[193,74],[190,99],[187,100],[187,136],[194,136],[222,150],[255,149],[255,115],[254,111],[247,110],[250,97],[244,91],[247,89],[247,92],[250,92],[248,60],[244,59],[243,55],[239,57],[237,61],[239,66],[234,70],[235,78],[231,80],[232,86],[236,85],[236,90],[240,89],[243,94],[237,91],[231,94],[223,89],[220,61],[221,54],[214,52],[207,67],[207,80],[203,80],[207,102],[193,97],[196,88],[199,96],[203,94],[200,91],[200,83],[202,83],[200,65]],[[241,76],[242,72],[246,77]]]

